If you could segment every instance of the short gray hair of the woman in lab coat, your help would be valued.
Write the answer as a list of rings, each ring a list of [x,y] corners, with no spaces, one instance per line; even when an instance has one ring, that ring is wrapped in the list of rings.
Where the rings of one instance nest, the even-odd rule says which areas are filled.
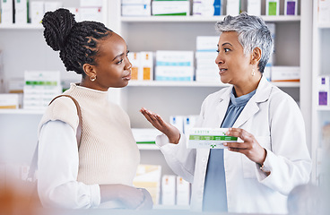
[[[265,21],[247,13],[238,16],[227,15],[223,21],[216,23],[216,30],[220,33],[236,31],[239,34],[239,43],[244,49],[244,54],[251,53],[255,47],[261,49],[261,59],[258,67],[264,73],[265,65],[273,53],[273,39]]]

